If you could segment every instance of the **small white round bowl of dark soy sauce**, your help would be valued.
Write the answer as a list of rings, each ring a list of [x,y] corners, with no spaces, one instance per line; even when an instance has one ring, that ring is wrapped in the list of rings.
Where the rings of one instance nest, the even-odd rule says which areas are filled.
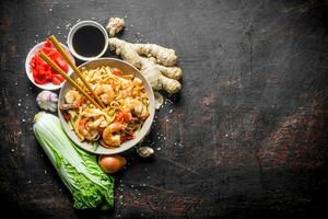
[[[77,23],[68,35],[68,47],[80,60],[90,61],[102,57],[108,47],[106,30],[97,22]]]

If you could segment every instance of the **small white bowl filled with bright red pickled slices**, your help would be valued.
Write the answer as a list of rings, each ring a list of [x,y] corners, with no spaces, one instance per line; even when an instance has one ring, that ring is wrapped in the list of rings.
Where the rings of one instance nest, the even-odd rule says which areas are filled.
[[[69,57],[74,61],[69,49],[61,44]],[[25,60],[25,70],[31,82],[44,90],[57,90],[62,87],[65,79],[58,74],[51,66],[44,61],[38,54],[44,51],[52,61],[57,64],[68,74],[72,72],[70,66],[66,62],[62,56],[57,51],[56,47],[49,39],[34,46],[28,53]]]

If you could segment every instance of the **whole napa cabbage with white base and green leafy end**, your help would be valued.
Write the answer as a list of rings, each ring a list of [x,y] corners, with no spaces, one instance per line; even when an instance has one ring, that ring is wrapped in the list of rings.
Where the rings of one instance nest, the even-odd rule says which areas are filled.
[[[102,171],[96,157],[78,148],[67,137],[58,117],[40,112],[34,122],[34,135],[71,192],[74,208],[113,208],[114,178]]]

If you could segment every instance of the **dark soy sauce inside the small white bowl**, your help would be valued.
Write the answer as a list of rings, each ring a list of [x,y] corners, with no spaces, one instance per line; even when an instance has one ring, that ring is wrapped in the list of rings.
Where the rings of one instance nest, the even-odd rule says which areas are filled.
[[[82,26],[74,33],[72,44],[80,56],[94,57],[104,49],[105,37],[103,32],[95,26]]]

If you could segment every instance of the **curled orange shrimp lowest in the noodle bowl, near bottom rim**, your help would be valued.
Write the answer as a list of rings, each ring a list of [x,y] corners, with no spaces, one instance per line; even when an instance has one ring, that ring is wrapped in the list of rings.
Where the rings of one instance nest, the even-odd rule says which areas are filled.
[[[103,131],[103,141],[101,141],[104,147],[118,147],[120,145],[120,135],[114,135],[114,132],[124,128],[125,126],[120,123],[114,123],[107,126]]]

